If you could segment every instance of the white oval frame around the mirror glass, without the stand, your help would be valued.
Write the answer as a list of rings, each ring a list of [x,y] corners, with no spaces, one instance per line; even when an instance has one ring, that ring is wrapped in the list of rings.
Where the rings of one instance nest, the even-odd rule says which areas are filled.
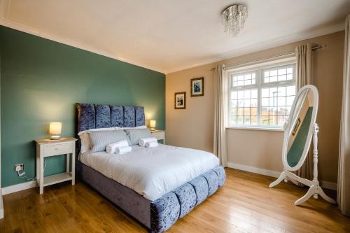
[[[295,112],[295,105],[297,104],[297,100],[302,97],[302,92],[304,90],[311,90],[314,94],[314,106],[313,106],[313,111],[311,115],[311,121],[310,121],[310,127],[309,127],[309,132],[307,133],[307,141],[304,146],[304,150],[302,151],[302,155],[300,157],[299,162],[294,167],[290,167],[287,162],[287,155],[288,155],[288,139],[289,139],[289,132],[290,132],[290,127],[292,127],[292,116],[294,115]],[[314,85],[304,85],[298,92],[297,95],[295,96],[295,99],[293,101],[293,106],[290,111],[290,118],[288,118],[286,127],[284,129],[284,139],[283,139],[283,148],[282,148],[282,162],[283,162],[283,167],[287,171],[297,171],[302,167],[302,164],[304,164],[304,161],[307,157],[307,153],[309,152],[309,148],[311,146],[311,140],[313,137],[314,133],[314,125],[316,123],[316,117],[317,117],[317,111],[318,111],[318,90]]]

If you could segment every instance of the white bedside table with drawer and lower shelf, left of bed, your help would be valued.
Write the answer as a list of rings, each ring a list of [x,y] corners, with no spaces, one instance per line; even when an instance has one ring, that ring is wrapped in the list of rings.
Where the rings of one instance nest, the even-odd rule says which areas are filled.
[[[43,194],[43,188],[48,185],[71,181],[76,182],[76,140],[75,138],[62,138],[59,140],[40,139],[36,141],[36,182]],[[66,154],[66,172],[52,176],[43,176],[45,157]],[[71,172],[69,163],[71,155]]]

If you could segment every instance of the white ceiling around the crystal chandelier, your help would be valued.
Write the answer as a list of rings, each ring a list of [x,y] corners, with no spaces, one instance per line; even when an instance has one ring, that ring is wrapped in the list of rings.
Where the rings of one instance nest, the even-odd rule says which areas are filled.
[[[229,0],[0,0],[1,24],[170,73],[344,28],[349,0],[246,0],[232,38]]]

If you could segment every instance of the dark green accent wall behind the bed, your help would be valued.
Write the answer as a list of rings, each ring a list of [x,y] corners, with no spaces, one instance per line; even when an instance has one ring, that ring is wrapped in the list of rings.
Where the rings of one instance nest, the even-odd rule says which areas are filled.
[[[144,106],[146,120],[165,129],[165,74],[0,26],[1,186],[36,174],[34,139],[48,123],[74,136],[76,102]],[[49,158],[45,175],[64,171],[64,156]]]

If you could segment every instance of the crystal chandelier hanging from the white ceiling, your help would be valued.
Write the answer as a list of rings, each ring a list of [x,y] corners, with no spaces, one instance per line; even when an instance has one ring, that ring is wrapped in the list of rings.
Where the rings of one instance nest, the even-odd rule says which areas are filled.
[[[239,31],[243,29],[247,16],[248,10],[246,10],[246,6],[241,4],[235,4],[223,10],[221,17],[225,32],[228,32],[231,36],[237,36]]]

